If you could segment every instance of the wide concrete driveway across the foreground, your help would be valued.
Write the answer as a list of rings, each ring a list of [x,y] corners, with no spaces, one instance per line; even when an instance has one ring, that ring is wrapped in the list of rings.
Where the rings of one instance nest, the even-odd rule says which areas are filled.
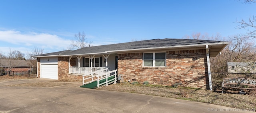
[[[246,109],[152,95],[80,88],[82,83],[54,87],[6,86],[50,81],[50,79],[37,78],[0,82],[0,113],[234,113],[234,111],[244,113],[246,111]]]

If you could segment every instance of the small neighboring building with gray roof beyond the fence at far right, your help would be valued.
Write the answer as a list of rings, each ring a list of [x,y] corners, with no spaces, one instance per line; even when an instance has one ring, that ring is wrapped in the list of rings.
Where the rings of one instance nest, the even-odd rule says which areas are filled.
[[[255,62],[228,62],[228,73],[255,74]]]

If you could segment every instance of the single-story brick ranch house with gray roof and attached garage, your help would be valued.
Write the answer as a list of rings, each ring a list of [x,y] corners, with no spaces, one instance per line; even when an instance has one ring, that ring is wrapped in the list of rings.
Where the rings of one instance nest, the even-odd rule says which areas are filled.
[[[124,81],[212,90],[209,57],[228,42],[192,39],[152,39],[85,47],[36,55],[37,76],[79,79],[88,72],[118,69]]]

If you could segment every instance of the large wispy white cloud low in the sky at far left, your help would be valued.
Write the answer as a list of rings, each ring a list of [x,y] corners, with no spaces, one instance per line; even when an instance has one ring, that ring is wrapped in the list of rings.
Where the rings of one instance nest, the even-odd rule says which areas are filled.
[[[45,47],[49,49],[64,49],[70,45],[70,40],[48,33],[21,33],[20,31],[0,31],[0,41],[16,47]]]

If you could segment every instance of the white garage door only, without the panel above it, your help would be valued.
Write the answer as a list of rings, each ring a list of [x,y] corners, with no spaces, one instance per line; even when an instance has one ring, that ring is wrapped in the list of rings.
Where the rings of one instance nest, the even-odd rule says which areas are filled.
[[[58,64],[41,64],[41,78],[58,80]]]

